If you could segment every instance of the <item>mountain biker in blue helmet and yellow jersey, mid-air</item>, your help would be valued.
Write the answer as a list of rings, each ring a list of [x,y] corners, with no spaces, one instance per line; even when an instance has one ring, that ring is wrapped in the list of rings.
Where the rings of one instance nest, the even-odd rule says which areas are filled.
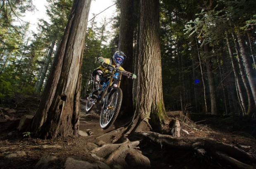
[[[131,75],[133,79],[136,79],[137,76],[135,74],[130,73],[130,72],[124,70],[120,66],[125,58],[126,58],[126,55],[123,52],[116,51],[114,53],[114,55],[110,59],[99,57],[98,61],[100,63],[107,63],[107,64],[113,66],[114,68],[118,68],[119,70],[124,71],[124,72],[128,73],[129,75]],[[99,90],[98,90],[99,84],[100,84],[101,78],[106,73],[109,73],[109,70],[107,70],[106,68],[104,68],[102,66],[100,66],[100,67],[96,68],[95,70],[93,70],[92,77],[94,78],[94,89],[96,89],[95,92],[93,93],[93,95],[97,96],[99,94]],[[118,82],[114,81],[112,85],[113,85],[113,87],[117,87]]]

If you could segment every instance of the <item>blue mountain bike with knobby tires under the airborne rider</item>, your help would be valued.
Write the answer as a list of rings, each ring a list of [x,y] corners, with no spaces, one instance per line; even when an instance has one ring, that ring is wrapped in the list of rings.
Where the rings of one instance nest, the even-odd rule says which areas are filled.
[[[101,63],[101,66],[107,68],[109,73],[101,78],[99,89],[92,89],[92,92],[87,97],[85,110],[89,112],[97,102],[102,101],[104,104],[100,113],[100,127],[107,129],[115,122],[121,108],[123,99],[123,93],[120,89],[121,77],[125,75],[128,78],[132,78],[132,75],[114,68],[107,63]],[[113,87],[112,85],[114,80],[118,82],[117,87]],[[97,91],[99,91],[99,94],[95,96],[94,94]]]

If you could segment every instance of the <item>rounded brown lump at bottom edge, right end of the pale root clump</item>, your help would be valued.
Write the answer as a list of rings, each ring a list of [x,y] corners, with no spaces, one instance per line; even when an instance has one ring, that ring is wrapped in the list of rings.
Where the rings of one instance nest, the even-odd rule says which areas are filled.
[[[136,150],[130,151],[125,160],[131,168],[146,169],[151,167],[150,160]]]

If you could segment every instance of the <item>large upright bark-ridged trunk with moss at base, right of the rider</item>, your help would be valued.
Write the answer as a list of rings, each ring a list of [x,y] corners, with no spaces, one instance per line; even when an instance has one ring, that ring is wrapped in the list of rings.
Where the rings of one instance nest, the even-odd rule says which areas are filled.
[[[144,122],[149,125],[151,118],[152,127],[159,127],[165,117],[159,37],[159,0],[141,0],[136,104],[139,126],[145,126]]]

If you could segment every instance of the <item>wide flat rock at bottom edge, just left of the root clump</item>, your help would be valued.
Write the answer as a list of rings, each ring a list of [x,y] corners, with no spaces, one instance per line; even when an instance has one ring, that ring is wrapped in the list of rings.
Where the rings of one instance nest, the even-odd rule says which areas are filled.
[[[91,164],[87,161],[75,160],[71,157],[68,157],[65,161],[64,169],[110,169],[110,167],[100,161]]]

